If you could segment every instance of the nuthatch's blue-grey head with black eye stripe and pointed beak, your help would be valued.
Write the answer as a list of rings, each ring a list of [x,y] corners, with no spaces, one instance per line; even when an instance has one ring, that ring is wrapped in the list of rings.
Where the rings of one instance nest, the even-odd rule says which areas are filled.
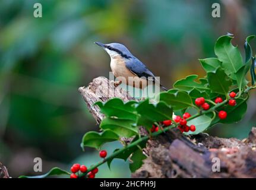
[[[131,54],[131,52],[129,52],[127,47],[125,47],[121,43],[108,43],[108,44],[103,44],[100,42],[94,42],[94,43],[96,43],[96,45],[100,47],[103,47],[103,49],[105,49],[106,52],[108,52],[111,58],[113,58],[116,55],[121,55],[123,58],[127,58],[127,59],[134,57]]]

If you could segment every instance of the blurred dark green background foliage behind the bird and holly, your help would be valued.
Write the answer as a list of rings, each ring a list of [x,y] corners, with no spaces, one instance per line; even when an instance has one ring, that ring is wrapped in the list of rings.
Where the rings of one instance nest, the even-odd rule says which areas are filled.
[[[33,17],[40,2],[43,17]],[[221,17],[211,17],[219,2]],[[214,56],[214,43],[227,32],[242,50],[256,34],[256,1],[0,1],[0,162],[10,175],[33,172],[42,157],[43,172],[72,163],[87,166],[99,159],[83,152],[81,138],[98,130],[78,87],[108,77],[109,56],[93,42],[124,43],[162,84],[189,74],[204,75],[198,58]],[[252,46],[255,49],[255,42]],[[219,137],[245,138],[255,124],[255,93],[245,118],[236,125],[208,131]],[[103,148],[111,151],[119,144]],[[121,160],[99,168],[97,177],[129,177]]]

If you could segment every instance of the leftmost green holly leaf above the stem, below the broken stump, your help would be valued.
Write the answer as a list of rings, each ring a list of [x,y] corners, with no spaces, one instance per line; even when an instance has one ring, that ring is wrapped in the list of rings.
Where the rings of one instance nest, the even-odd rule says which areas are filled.
[[[119,136],[115,134],[115,132],[106,130],[103,132],[95,132],[90,131],[84,134],[81,147],[84,150],[84,147],[92,147],[96,149],[100,149],[100,147],[105,144],[112,141],[116,141],[119,139]]]

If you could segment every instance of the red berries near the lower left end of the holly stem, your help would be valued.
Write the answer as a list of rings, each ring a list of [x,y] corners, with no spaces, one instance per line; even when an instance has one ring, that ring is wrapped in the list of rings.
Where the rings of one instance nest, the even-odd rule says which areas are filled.
[[[106,150],[102,150],[100,151],[99,155],[100,157],[102,157],[103,159],[107,156],[107,151]],[[71,167],[71,175],[70,178],[79,178],[80,173],[86,173],[87,172],[87,167],[84,165],[81,165],[76,163],[73,164],[73,166]],[[93,170],[91,170],[90,172],[87,173],[87,178],[95,178],[96,173],[99,172],[99,169],[96,167]]]

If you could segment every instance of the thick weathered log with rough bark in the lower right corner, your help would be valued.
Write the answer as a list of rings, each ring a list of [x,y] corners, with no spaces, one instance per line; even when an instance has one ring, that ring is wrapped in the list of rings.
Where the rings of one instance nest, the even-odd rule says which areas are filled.
[[[171,143],[153,140],[148,158],[132,177],[256,178],[255,144],[205,134],[189,140],[205,151],[198,151],[179,138]],[[220,160],[220,172],[213,172],[213,158]]]

